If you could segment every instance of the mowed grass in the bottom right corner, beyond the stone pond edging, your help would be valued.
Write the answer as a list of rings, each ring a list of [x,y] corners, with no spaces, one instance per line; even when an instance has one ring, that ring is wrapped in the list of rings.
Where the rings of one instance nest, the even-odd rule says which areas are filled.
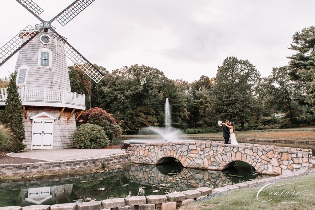
[[[179,210],[216,210],[216,209],[224,209],[224,210],[235,210],[235,209],[242,209],[242,210],[256,210],[256,209],[275,209],[275,210],[282,210],[282,209],[315,209],[315,175],[301,177],[297,179],[289,179],[284,180],[281,182],[276,183],[275,185],[279,184],[293,184],[295,187],[296,192],[305,191],[301,195],[301,199],[294,200],[289,197],[273,197],[269,196],[269,192],[262,194],[259,196],[261,201],[268,201],[269,199],[273,198],[272,201],[268,202],[261,202],[256,199],[257,193],[252,193],[249,191],[248,188],[246,189],[239,189],[232,191],[224,196],[214,198],[209,201],[201,201],[197,203],[190,203],[186,206],[182,206]],[[251,191],[258,191],[260,187],[252,188]],[[288,185],[284,185],[281,187],[277,187],[277,189],[289,189]],[[294,196],[297,198],[297,196]],[[299,202],[297,204],[284,204],[281,202]]]

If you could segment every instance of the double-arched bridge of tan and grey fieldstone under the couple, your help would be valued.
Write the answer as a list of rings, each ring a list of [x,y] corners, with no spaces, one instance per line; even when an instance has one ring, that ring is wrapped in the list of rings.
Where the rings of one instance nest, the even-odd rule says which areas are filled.
[[[260,174],[287,175],[312,167],[312,150],[221,141],[131,144],[127,153],[134,163],[157,165],[177,159],[184,167],[209,170],[224,170],[243,161]]]

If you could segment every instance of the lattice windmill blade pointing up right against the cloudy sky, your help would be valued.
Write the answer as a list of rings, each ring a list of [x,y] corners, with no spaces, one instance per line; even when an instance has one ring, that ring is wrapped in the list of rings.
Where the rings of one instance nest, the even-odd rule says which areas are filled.
[[[70,22],[70,20],[72,20],[94,1],[95,0],[76,0],[62,12],[57,14],[56,17],[51,20],[51,22],[57,20],[61,26],[65,26],[68,22]]]

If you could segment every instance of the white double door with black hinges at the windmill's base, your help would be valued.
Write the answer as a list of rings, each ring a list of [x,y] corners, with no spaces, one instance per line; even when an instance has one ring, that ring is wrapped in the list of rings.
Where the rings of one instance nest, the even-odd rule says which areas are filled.
[[[53,119],[33,119],[32,149],[51,149]]]

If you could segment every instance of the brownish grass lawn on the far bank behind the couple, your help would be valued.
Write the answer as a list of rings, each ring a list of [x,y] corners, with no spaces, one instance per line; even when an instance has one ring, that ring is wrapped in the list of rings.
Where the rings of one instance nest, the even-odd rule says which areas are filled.
[[[222,137],[219,133],[199,133],[199,134],[183,134],[182,137]],[[289,128],[289,129],[270,129],[255,131],[237,131],[236,138],[247,139],[278,139],[278,140],[315,140],[315,127],[309,128]],[[128,137],[145,138],[146,135],[128,135]],[[152,135],[150,136],[152,137]]]

